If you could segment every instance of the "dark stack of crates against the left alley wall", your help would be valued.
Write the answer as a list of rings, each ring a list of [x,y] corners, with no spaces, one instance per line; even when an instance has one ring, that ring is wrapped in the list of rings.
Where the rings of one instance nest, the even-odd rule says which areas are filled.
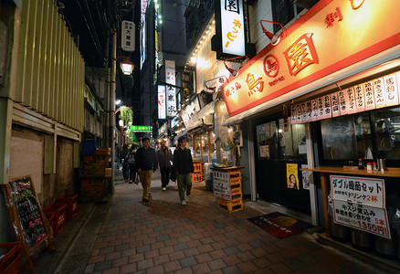
[[[84,155],[83,161],[80,198],[82,202],[101,202],[111,184],[111,148],[97,148],[94,154]]]

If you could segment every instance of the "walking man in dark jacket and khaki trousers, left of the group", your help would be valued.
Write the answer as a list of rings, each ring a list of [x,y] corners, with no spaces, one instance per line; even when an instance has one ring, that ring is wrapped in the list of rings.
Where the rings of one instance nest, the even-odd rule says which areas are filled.
[[[142,202],[149,203],[150,184],[152,182],[153,173],[157,170],[157,155],[153,148],[150,147],[149,137],[142,139],[143,146],[136,152],[136,169],[143,186]]]

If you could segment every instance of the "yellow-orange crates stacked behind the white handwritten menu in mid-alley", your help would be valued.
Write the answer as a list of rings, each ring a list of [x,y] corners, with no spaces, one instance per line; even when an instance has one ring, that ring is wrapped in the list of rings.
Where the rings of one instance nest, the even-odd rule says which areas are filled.
[[[217,198],[216,205],[219,209],[228,213],[236,212],[243,209],[243,194],[242,194],[242,176],[240,170],[232,170],[227,172],[228,195],[224,198]]]

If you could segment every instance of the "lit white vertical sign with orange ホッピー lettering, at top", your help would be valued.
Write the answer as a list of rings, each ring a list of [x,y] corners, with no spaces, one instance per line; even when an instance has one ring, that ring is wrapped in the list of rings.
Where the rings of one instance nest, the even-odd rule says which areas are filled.
[[[246,54],[243,0],[220,0],[222,52],[237,56]]]

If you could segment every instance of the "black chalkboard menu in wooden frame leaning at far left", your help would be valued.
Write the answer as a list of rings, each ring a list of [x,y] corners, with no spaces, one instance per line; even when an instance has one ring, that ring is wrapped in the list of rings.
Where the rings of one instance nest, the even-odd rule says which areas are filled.
[[[22,243],[21,251],[26,258],[26,270],[33,272],[31,256],[44,248],[55,249],[47,218],[30,176],[11,179],[2,188],[12,227]]]

